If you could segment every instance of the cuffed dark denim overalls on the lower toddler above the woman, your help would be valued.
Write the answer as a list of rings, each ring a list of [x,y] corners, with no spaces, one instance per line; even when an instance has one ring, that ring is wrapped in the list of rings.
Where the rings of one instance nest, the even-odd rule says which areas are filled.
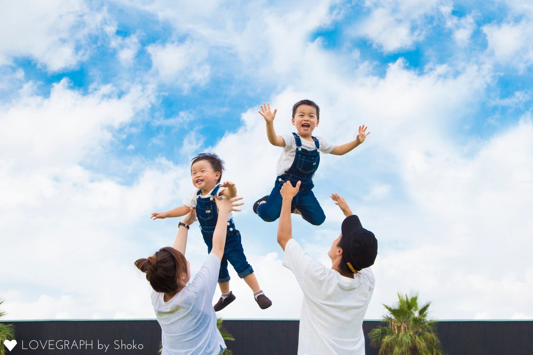
[[[200,224],[201,234],[207,245],[207,253],[213,249],[213,233],[215,232],[216,221],[219,212],[216,209],[215,196],[219,192],[220,185],[216,185],[211,194],[206,197],[201,196],[201,189],[196,193],[196,216]],[[240,278],[252,274],[254,270],[246,261],[243,245],[240,241],[240,232],[235,228],[233,219],[227,222],[226,243],[224,245],[224,255],[220,261],[219,283],[228,282],[228,261],[231,263]]]

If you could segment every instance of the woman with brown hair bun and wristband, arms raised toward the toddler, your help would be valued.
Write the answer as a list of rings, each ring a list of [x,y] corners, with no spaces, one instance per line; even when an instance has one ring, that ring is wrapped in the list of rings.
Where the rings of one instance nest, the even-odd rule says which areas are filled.
[[[189,225],[196,218],[193,209],[178,225],[173,247],[161,248],[151,257],[135,261],[135,266],[146,273],[147,280],[154,288],[152,306],[161,326],[163,355],[217,355],[226,348],[216,328],[211,302],[224,254],[228,213],[240,211],[236,207],[243,204],[237,203],[241,199],[216,199],[219,217],[213,234],[213,249],[190,283],[190,265],[184,254]]]

